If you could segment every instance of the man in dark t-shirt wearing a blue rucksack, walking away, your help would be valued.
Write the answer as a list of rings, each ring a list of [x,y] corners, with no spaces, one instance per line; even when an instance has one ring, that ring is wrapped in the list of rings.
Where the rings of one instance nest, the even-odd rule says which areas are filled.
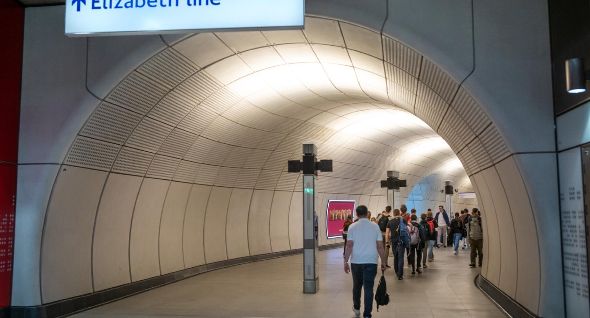
[[[409,246],[408,223],[399,215],[399,210],[394,210],[394,218],[387,223],[385,239],[388,245],[394,249],[394,269],[398,280],[404,279],[404,253]]]

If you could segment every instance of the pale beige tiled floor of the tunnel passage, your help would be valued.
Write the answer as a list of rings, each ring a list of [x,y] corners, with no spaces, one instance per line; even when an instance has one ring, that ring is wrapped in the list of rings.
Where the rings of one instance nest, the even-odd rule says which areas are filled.
[[[474,286],[480,267],[468,267],[469,251],[455,256],[452,248],[435,249],[435,261],[424,273],[412,275],[406,267],[401,281],[393,269],[386,271],[391,301],[379,312],[373,306],[373,317],[506,317]],[[212,271],[73,317],[355,317],[342,249],[320,252],[317,294],[302,293],[302,261],[297,255]]]

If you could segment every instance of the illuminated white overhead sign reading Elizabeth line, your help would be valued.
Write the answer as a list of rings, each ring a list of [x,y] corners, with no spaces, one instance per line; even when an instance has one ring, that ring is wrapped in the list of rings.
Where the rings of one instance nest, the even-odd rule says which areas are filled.
[[[70,36],[302,29],[305,0],[67,0]]]

